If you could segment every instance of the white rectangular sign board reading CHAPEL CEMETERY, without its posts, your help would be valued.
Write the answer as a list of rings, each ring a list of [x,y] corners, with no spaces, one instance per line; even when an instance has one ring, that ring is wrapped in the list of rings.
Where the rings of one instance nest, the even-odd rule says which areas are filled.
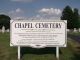
[[[62,20],[11,20],[10,46],[66,47],[66,25]]]

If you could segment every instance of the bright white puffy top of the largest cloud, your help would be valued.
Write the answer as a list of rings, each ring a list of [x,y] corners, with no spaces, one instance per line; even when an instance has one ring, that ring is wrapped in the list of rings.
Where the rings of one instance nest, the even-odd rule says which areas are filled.
[[[47,15],[59,15],[61,14],[61,10],[55,8],[42,8],[41,10],[39,10],[39,13],[43,13]]]

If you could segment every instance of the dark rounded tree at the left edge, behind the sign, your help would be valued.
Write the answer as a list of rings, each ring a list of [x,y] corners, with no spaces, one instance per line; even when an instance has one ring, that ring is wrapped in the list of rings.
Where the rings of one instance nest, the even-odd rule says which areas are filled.
[[[11,18],[7,15],[1,14],[0,15],[0,28],[5,26],[6,29],[10,28],[10,20]]]

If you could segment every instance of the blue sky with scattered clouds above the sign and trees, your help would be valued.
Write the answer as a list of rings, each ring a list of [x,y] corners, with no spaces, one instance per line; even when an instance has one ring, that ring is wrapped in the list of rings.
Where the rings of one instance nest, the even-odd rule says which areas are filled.
[[[80,13],[80,0],[0,0],[0,14],[12,19],[59,19],[67,5],[78,8]]]

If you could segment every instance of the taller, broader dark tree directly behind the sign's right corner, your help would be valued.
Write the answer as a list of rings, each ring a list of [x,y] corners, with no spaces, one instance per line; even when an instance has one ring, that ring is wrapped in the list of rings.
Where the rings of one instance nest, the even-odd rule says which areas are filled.
[[[71,9],[70,6],[66,6],[64,9],[63,9],[63,12],[62,12],[62,16],[61,16],[61,20],[67,20],[67,28],[68,29],[73,29],[73,11]]]

